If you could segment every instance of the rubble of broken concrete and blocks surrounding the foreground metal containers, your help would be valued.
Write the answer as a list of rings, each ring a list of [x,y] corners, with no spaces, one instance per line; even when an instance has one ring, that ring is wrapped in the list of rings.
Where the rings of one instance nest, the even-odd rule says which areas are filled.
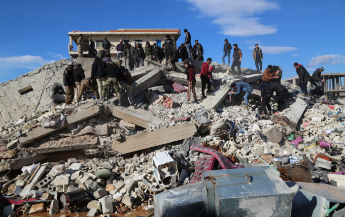
[[[149,72],[162,70],[146,67]],[[234,79],[246,76],[232,75],[218,64],[216,69],[216,85],[230,86]],[[169,73],[169,67],[164,70]],[[136,109],[116,106],[115,97],[103,102],[87,95],[79,103],[54,104],[12,120],[0,127],[1,194],[10,203],[26,202],[7,203],[2,215],[19,210],[49,215],[68,210],[88,212],[91,217],[140,207],[151,211],[154,195],[173,188],[177,192],[180,186],[186,189],[197,164],[211,157],[211,152],[195,144],[213,150],[218,158],[224,156],[232,170],[270,164],[283,181],[345,188],[343,101],[325,95],[301,97],[289,83],[282,84],[293,98],[282,112],[272,100],[275,114],[269,119],[262,114],[261,101],[254,99],[249,110],[243,109],[241,97],[226,97],[216,109],[205,106],[198,87],[199,103],[188,104],[187,93],[174,91],[169,74],[162,73],[160,81],[135,97]],[[255,83],[251,85],[257,89]],[[163,98],[171,99],[171,106],[165,106]],[[47,159],[51,153],[72,150],[89,158]],[[38,162],[43,159],[45,163]],[[220,162],[223,168],[224,162]]]

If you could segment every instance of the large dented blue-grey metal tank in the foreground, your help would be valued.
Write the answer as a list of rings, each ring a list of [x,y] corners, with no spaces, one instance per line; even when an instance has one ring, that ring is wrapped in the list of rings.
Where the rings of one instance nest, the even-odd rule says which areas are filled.
[[[207,171],[203,185],[209,217],[290,217],[298,189],[269,167]]]

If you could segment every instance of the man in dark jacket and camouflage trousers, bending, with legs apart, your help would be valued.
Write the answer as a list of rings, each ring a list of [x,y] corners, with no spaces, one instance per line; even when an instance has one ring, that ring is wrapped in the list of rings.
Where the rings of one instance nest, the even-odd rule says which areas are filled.
[[[102,98],[101,100],[107,100],[108,97],[105,97],[105,90],[107,90],[107,92],[109,92],[109,86],[111,84],[114,85],[114,89],[115,92],[117,94],[117,98],[119,99],[119,106],[122,106],[121,103],[121,94],[120,94],[120,88],[119,88],[119,78],[122,75],[125,75],[125,73],[122,72],[121,74],[121,62],[119,60],[116,60],[115,62],[110,62],[109,63],[109,67],[107,67],[106,69],[104,69],[104,71],[102,72],[102,75],[105,77],[108,77],[104,83],[103,89],[102,89]]]

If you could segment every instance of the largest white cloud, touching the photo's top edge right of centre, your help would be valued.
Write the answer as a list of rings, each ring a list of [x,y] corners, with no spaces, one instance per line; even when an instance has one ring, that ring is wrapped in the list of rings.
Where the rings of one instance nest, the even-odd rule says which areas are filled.
[[[221,33],[232,36],[252,36],[276,33],[275,26],[265,26],[261,18],[253,17],[268,10],[279,9],[269,0],[185,0],[200,11],[202,16],[212,18],[212,23],[222,28]],[[192,9],[192,10],[193,10]],[[191,9],[189,9],[191,10]]]

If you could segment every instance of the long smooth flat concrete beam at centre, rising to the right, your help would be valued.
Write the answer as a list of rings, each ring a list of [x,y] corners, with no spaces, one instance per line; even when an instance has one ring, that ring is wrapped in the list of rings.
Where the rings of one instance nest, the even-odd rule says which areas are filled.
[[[120,154],[127,154],[139,150],[168,144],[193,136],[197,132],[194,123],[178,124],[150,132],[129,136],[125,139],[114,141],[112,149]]]

